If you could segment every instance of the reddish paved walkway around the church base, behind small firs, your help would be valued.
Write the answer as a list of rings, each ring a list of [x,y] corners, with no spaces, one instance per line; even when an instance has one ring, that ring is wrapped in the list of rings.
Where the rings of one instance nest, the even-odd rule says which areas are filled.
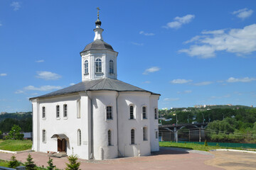
[[[48,154],[42,152],[31,152],[33,161],[38,166],[48,166]],[[12,154],[0,153],[0,159],[9,160]],[[18,161],[26,162],[28,153],[15,154]],[[79,159],[80,169],[222,169],[212,165],[206,165],[204,162],[213,159],[214,155],[208,152],[198,152],[189,149],[161,148],[159,152],[152,153],[149,157],[126,157],[119,159],[110,159],[104,161],[87,161]],[[59,169],[65,169],[66,157],[53,158],[53,164]]]

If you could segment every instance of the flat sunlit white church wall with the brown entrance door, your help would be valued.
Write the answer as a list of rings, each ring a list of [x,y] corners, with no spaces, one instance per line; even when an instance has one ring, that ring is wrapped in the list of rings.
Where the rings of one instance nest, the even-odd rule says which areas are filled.
[[[58,143],[54,134],[65,134],[67,141],[67,154],[78,154],[82,159],[88,159],[87,137],[87,99],[82,98],[81,118],[77,115],[77,101],[79,95],[62,96],[56,98],[41,99],[39,101],[39,150],[40,152],[57,152]],[[68,106],[68,116],[63,117],[63,105]],[[60,106],[60,118],[56,118],[56,106]],[[46,118],[42,118],[42,107],[46,108]],[[83,109],[84,108],[84,109]],[[78,130],[81,130],[82,143],[78,146]],[[42,141],[43,130],[46,130],[46,142]],[[36,144],[35,142],[35,144]]]

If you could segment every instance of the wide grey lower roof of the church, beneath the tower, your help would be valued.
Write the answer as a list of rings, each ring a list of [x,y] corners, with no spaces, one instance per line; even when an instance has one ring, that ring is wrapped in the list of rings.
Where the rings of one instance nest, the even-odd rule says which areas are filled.
[[[148,92],[150,94],[154,94],[151,91],[146,91],[144,89],[140,89],[137,86],[132,86],[131,84],[124,83],[123,81],[119,81],[117,79],[95,79],[95,80],[88,80],[82,81],[78,84],[73,86],[69,86],[65,89],[60,89],[58,91],[50,92],[49,94],[45,94],[43,96],[38,96],[34,98],[46,98],[51,96],[59,96],[65,94],[74,94],[82,91],[137,91],[137,92]],[[155,94],[160,95],[160,94]],[[33,98],[30,98],[33,99]]]

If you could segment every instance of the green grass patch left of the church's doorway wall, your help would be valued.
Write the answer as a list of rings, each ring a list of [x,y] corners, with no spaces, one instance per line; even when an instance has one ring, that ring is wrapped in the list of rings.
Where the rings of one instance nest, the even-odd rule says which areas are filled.
[[[31,140],[0,140],[0,149],[9,151],[23,151],[31,149]]]

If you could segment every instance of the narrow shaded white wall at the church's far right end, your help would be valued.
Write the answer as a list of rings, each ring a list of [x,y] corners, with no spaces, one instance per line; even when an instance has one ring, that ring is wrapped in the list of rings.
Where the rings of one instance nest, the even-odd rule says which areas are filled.
[[[158,110],[158,95],[151,95],[150,96],[150,145],[151,145],[151,152],[159,151],[159,125],[158,125],[158,111],[157,111],[157,119],[154,117],[154,109]],[[157,132],[157,138],[156,138]]]

